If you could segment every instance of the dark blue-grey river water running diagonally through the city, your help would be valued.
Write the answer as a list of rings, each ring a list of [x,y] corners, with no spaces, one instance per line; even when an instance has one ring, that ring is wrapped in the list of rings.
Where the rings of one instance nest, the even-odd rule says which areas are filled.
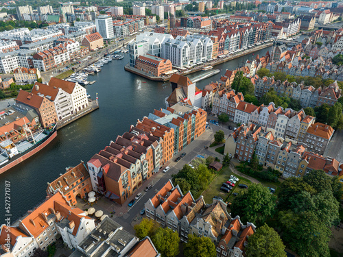
[[[201,89],[219,80],[226,69],[243,66],[248,58],[257,53],[263,56],[270,49],[215,66],[221,72],[197,82],[197,87]],[[5,181],[11,184],[11,214],[12,221],[15,221],[45,199],[47,182],[56,180],[66,167],[74,167],[80,160],[87,162],[110,140],[128,131],[137,119],[148,116],[155,108],[165,108],[165,97],[171,93],[169,82],[151,82],[124,71],[123,66],[127,63],[128,54],[125,54],[123,60],[113,60],[105,64],[100,73],[88,77],[90,81],[97,81],[86,88],[92,98],[98,93],[99,110],[58,130],[58,136],[45,149],[0,175],[0,192],[3,195],[0,196],[0,201],[3,201],[0,217],[5,215]],[[196,75],[194,73],[190,77]],[[0,220],[0,224],[4,223],[4,219]]]

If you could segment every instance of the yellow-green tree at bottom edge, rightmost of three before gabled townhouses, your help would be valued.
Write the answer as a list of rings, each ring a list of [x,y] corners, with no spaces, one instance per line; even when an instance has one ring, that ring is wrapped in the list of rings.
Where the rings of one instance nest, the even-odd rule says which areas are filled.
[[[183,254],[185,257],[215,257],[215,245],[209,237],[189,234]]]

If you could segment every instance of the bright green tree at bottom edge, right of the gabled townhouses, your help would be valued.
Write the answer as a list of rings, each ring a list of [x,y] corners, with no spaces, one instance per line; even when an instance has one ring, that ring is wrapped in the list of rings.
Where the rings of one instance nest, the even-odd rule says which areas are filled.
[[[249,237],[246,246],[247,257],[286,257],[285,245],[279,234],[264,224]]]

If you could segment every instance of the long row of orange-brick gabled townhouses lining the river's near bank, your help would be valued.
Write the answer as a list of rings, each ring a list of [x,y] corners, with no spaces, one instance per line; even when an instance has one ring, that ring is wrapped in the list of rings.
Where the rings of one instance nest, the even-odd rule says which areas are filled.
[[[145,180],[204,133],[205,126],[206,112],[200,108],[178,103],[154,110],[88,162],[79,164],[79,175],[66,173],[50,183],[47,193],[61,191],[75,205],[77,197],[83,199],[95,191],[123,204]],[[76,182],[66,184],[73,177]]]

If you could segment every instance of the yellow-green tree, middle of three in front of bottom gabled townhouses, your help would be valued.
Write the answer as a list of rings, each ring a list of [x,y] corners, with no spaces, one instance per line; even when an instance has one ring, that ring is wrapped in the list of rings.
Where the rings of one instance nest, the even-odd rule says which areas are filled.
[[[152,236],[152,243],[162,256],[174,257],[179,253],[180,237],[177,232],[173,232],[170,228],[158,228]]]

